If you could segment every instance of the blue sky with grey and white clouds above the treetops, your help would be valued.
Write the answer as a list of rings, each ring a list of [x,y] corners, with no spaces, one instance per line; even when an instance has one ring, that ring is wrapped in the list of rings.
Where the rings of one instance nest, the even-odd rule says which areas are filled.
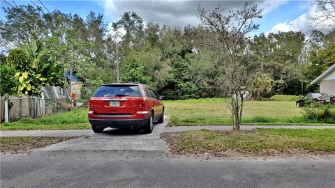
[[[3,0],[1,7],[8,6]],[[16,5],[28,3],[42,6],[38,0],[6,0],[8,3]],[[246,1],[191,1],[191,0],[152,0],[152,1],[42,1],[45,7],[52,10],[61,10],[64,13],[72,13],[86,17],[90,11],[101,13],[105,16],[105,22],[109,25],[121,18],[126,11],[135,11],[143,17],[144,22],[158,22],[161,25],[184,27],[187,25],[196,26],[200,24],[197,17],[198,7],[212,9],[221,6],[225,10],[241,8]],[[248,1],[257,3],[263,9],[262,19],[255,20],[260,24],[258,31],[253,31],[251,35],[259,33],[269,33],[278,31],[302,31],[308,34],[311,25],[309,17],[318,14],[318,10],[313,1],[288,1],[288,0],[263,0]],[[45,12],[47,10],[44,8]],[[1,10],[1,19],[5,19]]]

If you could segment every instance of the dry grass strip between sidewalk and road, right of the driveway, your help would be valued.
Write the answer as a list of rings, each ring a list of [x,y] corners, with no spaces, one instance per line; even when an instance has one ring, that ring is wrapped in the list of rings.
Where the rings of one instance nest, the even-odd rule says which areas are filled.
[[[209,130],[164,134],[176,154],[211,153],[234,150],[253,155],[276,153],[335,152],[333,129],[257,129],[248,132]]]

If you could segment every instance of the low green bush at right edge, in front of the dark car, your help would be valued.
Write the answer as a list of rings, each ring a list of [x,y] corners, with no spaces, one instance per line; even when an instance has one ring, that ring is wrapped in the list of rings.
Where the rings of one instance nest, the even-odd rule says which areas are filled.
[[[335,104],[320,104],[313,102],[311,106],[303,108],[302,115],[306,120],[335,123]]]

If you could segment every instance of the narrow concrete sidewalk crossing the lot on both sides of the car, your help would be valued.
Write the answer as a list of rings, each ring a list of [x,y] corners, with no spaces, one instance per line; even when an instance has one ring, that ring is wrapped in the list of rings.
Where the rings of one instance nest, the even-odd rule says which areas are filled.
[[[156,126],[157,128],[157,126]],[[241,130],[252,130],[255,128],[274,129],[335,129],[335,126],[308,126],[308,125],[242,125]],[[212,126],[175,126],[165,127],[160,132],[183,132],[190,130],[232,130],[231,125]],[[155,129],[154,129],[155,130]],[[0,136],[91,136],[91,130],[18,130],[0,131]],[[112,136],[112,135],[110,135]]]

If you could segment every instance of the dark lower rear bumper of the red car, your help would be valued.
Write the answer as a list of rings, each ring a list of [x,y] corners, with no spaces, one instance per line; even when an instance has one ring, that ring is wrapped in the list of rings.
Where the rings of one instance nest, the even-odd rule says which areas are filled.
[[[89,123],[102,128],[129,128],[129,127],[142,127],[148,122],[147,118],[144,119],[124,119],[124,120],[110,120],[110,119],[91,119]]]

